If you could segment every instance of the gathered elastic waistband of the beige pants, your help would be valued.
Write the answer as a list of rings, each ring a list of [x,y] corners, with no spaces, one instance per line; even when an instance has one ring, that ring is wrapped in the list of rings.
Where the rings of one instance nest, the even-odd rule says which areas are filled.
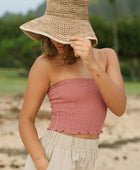
[[[87,150],[92,152],[96,151],[99,144],[99,138],[96,139],[78,138],[68,136],[51,129],[46,130],[45,136],[49,143],[53,143],[55,145],[62,145],[62,147],[66,149]]]

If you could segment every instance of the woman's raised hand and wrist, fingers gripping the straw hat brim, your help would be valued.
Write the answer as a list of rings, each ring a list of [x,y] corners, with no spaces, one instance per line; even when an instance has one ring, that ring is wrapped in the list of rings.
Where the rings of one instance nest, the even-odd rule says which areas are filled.
[[[94,66],[97,66],[96,58],[94,57],[94,50],[91,41],[83,37],[72,36],[69,37],[69,41],[74,41],[70,44],[74,49],[74,54],[76,57],[81,57],[85,66],[90,70]]]

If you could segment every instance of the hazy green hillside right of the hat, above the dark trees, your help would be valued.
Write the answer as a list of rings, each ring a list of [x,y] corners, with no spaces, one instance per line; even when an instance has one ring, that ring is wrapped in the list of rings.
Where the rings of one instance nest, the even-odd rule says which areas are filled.
[[[101,16],[110,22],[113,19],[113,9],[110,1],[114,0],[90,0],[89,14],[93,16]],[[140,15],[140,1],[138,0],[116,0],[117,13],[120,19],[123,16],[133,18],[134,14]]]

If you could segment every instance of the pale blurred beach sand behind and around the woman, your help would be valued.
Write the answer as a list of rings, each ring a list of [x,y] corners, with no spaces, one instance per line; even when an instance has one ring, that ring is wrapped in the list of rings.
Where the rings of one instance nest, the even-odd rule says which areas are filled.
[[[23,94],[0,97],[0,169],[23,170],[27,158],[18,131]],[[39,137],[50,124],[51,108],[46,96],[36,119]],[[140,169],[140,95],[127,96],[126,111],[121,117],[109,109],[100,135],[95,170]]]

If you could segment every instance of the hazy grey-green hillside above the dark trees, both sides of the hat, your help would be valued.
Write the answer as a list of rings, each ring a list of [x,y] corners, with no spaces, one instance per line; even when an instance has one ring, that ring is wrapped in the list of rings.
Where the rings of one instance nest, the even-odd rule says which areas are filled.
[[[138,0],[117,0],[118,17],[123,15],[132,17],[133,14],[140,15],[140,1]],[[42,3],[36,11],[30,11],[30,14],[35,16],[42,16],[45,12],[46,1]],[[89,15],[99,15],[110,21],[113,16],[112,5],[108,0],[90,0],[89,1]]]

